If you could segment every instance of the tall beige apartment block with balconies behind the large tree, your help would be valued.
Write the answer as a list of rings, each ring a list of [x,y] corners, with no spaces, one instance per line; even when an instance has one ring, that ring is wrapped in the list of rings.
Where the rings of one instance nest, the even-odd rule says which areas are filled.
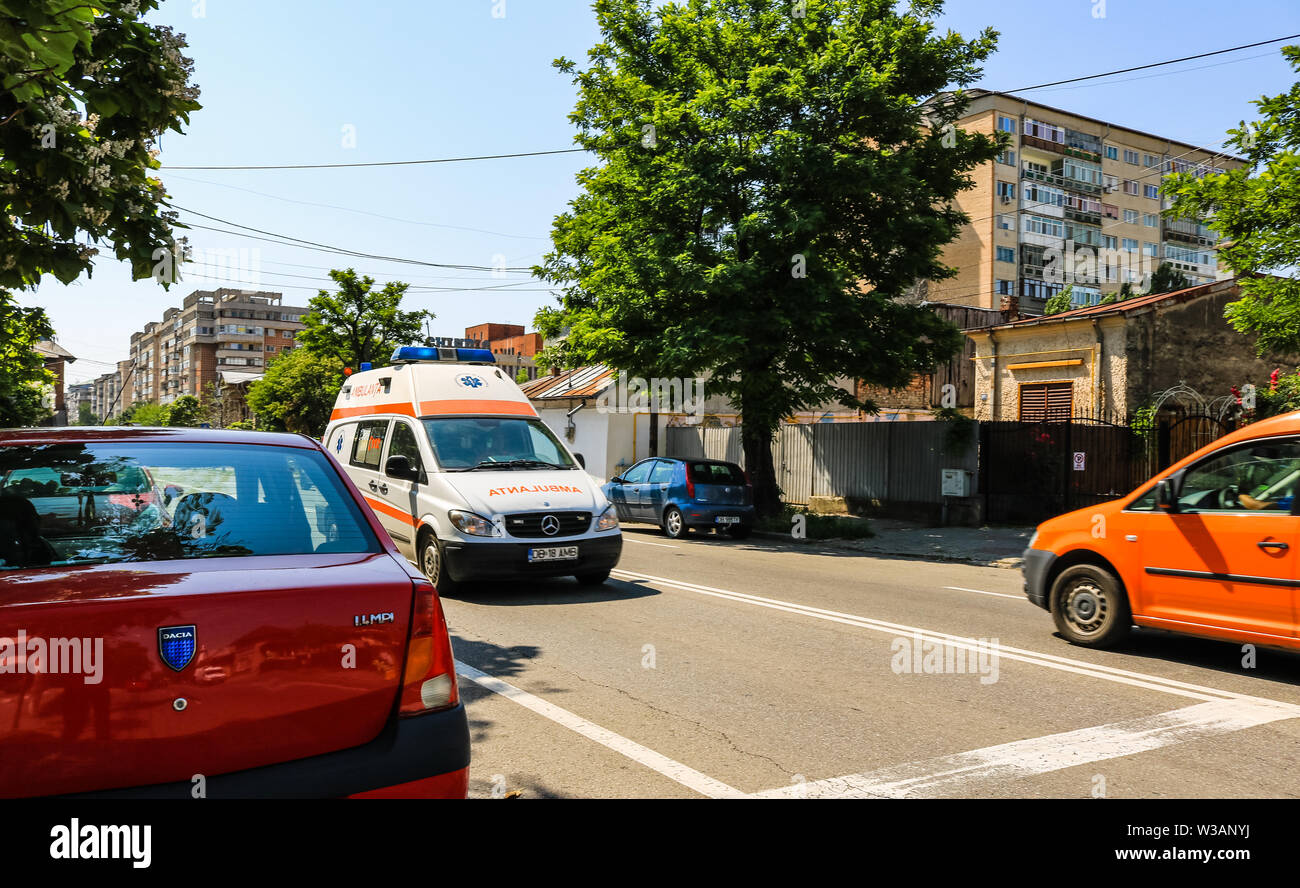
[[[971,222],[944,251],[958,274],[928,282],[926,299],[1035,316],[1067,285],[1075,307],[1124,283],[1141,290],[1164,261],[1192,285],[1230,277],[1201,220],[1161,215],[1169,202],[1160,183],[1169,173],[1231,169],[1239,157],[1004,92],[968,95],[958,126],[1010,142],[958,196]]]

